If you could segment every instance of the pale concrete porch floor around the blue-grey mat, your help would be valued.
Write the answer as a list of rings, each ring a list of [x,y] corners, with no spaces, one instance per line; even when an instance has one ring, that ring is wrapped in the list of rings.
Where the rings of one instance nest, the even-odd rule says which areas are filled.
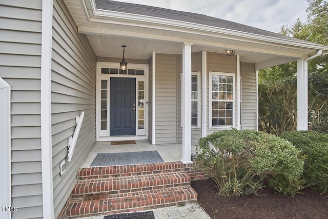
[[[111,142],[96,142],[89,152],[86,161],[81,168],[90,167],[97,153],[119,153],[135,151],[154,151],[156,150],[164,162],[180,161],[182,158],[181,144],[152,145],[148,140],[137,140],[136,144],[130,145],[111,145]],[[191,147],[191,152],[196,151],[196,146]]]

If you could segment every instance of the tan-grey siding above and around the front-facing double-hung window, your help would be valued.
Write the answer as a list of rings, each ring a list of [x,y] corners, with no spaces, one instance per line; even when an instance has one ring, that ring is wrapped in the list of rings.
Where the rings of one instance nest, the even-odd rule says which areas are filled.
[[[223,72],[223,73],[237,73],[237,59],[236,56],[228,56],[227,54],[223,53],[214,53],[214,52],[207,52],[207,134],[211,134],[215,131],[219,131],[224,128],[215,127],[209,128],[209,120],[210,120],[210,111],[209,111],[209,104],[210,102],[210,84],[209,84],[209,72]],[[237,125],[237,107],[236,107],[236,100],[237,100],[237,74],[235,75],[235,116],[233,118],[233,123]]]

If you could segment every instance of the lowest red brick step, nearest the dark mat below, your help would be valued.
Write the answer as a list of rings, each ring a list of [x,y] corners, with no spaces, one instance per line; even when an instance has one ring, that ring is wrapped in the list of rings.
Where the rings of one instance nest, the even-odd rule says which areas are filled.
[[[67,208],[67,216],[133,211],[133,209],[147,206],[149,209],[153,209],[159,205],[196,201],[197,193],[191,186],[109,194],[99,198],[85,198],[71,202]]]

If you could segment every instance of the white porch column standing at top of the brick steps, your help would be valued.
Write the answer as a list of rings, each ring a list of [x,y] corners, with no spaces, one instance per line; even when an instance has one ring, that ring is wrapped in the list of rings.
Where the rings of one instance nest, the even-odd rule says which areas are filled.
[[[191,161],[191,43],[182,45],[182,159],[183,164]]]

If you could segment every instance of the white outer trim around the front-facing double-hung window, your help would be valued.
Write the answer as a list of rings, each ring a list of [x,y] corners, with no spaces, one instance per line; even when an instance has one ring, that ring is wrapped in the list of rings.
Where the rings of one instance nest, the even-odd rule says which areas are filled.
[[[226,75],[233,77],[233,106],[232,106],[232,126],[212,126],[212,75]],[[209,129],[227,129],[236,128],[236,74],[226,72],[209,72]]]

